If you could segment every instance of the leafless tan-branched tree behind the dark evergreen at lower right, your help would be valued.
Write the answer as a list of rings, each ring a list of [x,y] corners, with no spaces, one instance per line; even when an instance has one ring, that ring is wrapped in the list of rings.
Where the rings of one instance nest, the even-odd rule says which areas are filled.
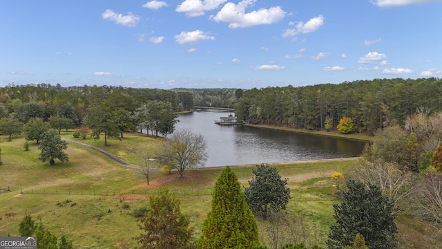
[[[365,159],[359,160],[356,167],[349,170],[350,178],[363,182],[365,185],[379,185],[382,193],[394,199],[394,212],[402,212],[407,203],[405,199],[414,188],[412,173],[399,169],[396,163],[375,160],[373,163]]]

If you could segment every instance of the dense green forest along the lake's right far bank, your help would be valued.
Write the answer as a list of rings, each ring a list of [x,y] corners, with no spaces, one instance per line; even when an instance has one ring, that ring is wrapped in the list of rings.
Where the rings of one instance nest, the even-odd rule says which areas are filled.
[[[442,111],[442,80],[374,79],[236,90],[238,120],[302,129],[323,129],[328,117],[336,128],[344,116],[352,118],[356,131],[403,124],[416,109]]]

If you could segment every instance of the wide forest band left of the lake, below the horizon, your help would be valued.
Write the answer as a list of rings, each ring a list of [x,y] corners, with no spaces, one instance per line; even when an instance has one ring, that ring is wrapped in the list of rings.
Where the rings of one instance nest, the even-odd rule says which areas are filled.
[[[0,118],[13,114],[21,122],[70,113],[77,126],[84,120],[89,107],[108,100],[115,108],[133,113],[142,104],[157,100],[170,102],[173,110],[193,109],[193,95],[186,91],[135,89],[122,86],[68,86],[60,84],[8,84],[0,88]],[[66,116],[66,115],[63,115]],[[67,117],[70,118],[70,117]]]

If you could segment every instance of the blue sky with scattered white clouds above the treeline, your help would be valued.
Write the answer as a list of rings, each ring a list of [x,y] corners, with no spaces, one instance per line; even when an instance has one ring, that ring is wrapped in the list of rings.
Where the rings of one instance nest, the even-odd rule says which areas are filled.
[[[4,0],[0,15],[0,86],[442,77],[441,0]]]

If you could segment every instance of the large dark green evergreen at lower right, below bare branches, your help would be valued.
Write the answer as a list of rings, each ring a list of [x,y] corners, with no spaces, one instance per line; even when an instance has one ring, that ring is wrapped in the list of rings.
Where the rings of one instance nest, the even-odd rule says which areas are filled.
[[[347,187],[342,203],[333,205],[336,224],[328,235],[328,248],[352,246],[356,234],[365,238],[368,248],[394,248],[394,201],[383,196],[377,185],[365,187],[364,183],[351,180]]]

